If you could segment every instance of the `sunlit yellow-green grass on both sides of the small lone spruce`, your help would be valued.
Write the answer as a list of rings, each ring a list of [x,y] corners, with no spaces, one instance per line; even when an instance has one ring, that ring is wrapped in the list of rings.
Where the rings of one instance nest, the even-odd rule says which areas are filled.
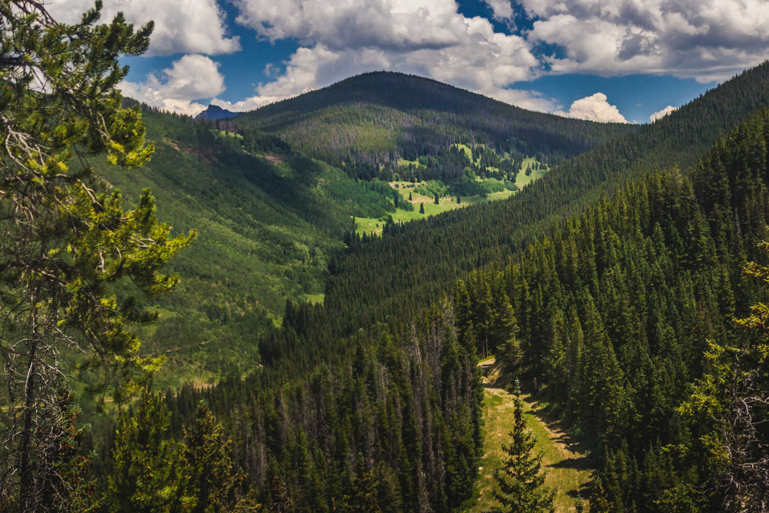
[[[548,471],[545,483],[556,489],[555,511],[565,513],[575,511],[573,495],[581,490],[581,495],[587,497],[584,486],[591,479],[591,470],[585,466],[586,459],[564,452],[551,439],[541,419],[532,415],[531,402],[524,396],[526,405],[526,421],[531,431],[537,437],[537,451],[543,451],[542,468]],[[501,468],[504,453],[501,445],[509,441],[508,433],[513,425],[513,396],[507,393],[497,394],[484,391],[484,454],[478,464],[478,479],[475,482],[473,496],[465,503],[464,511],[481,513],[489,511],[497,501],[494,501],[491,491],[496,487],[494,471]],[[556,465],[556,466],[554,466]]]

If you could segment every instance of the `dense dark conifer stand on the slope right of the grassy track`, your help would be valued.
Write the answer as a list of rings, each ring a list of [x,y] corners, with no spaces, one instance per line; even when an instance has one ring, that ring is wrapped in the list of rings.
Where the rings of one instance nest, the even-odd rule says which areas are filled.
[[[747,358],[765,332],[734,321],[769,298],[765,281],[743,272],[767,263],[767,147],[764,109],[687,176],[648,175],[567,218],[515,265],[457,282],[460,343],[496,353],[508,381],[537,378],[594,448],[591,511],[763,511],[766,483],[750,481],[769,471],[765,405],[749,415],[753,445],[719,459],[731,443],[720,421],[749,398],[720,390],[727,398],[715,395],[707,418],[691,395],[718,371],[706,352],[729,348],[724,386],[739,388],[743,378],[730,377],[741,370],[755,376],[747,395],[769,397],[766,355]],[[727,430],[747,436],[740,428]]]

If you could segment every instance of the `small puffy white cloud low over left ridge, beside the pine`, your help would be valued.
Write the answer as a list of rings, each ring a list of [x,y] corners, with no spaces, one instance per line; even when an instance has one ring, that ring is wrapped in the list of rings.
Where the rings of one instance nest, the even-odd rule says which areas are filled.
[[[145,82],[121,82],[123,95],[168,111],[195,115],[205,105],[195,102],[225,91],[225,78],[218,63],[205,55],[185,55],[164,69],[160,76],[147,75]]]

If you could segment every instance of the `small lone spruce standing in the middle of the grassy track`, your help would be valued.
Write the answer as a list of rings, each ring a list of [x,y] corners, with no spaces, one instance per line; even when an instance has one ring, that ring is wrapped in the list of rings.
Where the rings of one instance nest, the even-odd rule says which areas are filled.
[[[501,469],[494,474],[499,491],[494,498],[499,506],[496,513],[553,513],[555,491],[544,484],[545,473],[541,471],[542,452],[534,453],[536,437],[526,426],[524,402],[521,387],[516,380],[513,431],[511,441],[502,446],[507,458]]]

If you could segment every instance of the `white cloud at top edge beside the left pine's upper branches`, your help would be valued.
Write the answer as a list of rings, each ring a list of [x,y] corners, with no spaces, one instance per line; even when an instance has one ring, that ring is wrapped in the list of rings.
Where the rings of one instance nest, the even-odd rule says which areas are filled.
[[[62,22],[78,22],[93,5],[93,0],[47,3],[48,11]],[[109,22],[118,12],[137,26],[155,22],[145,55],[218,55],[241,49],[238,36],[228,37],[225,13],[216,0],[108,0],[102,9],[102,22]]]

